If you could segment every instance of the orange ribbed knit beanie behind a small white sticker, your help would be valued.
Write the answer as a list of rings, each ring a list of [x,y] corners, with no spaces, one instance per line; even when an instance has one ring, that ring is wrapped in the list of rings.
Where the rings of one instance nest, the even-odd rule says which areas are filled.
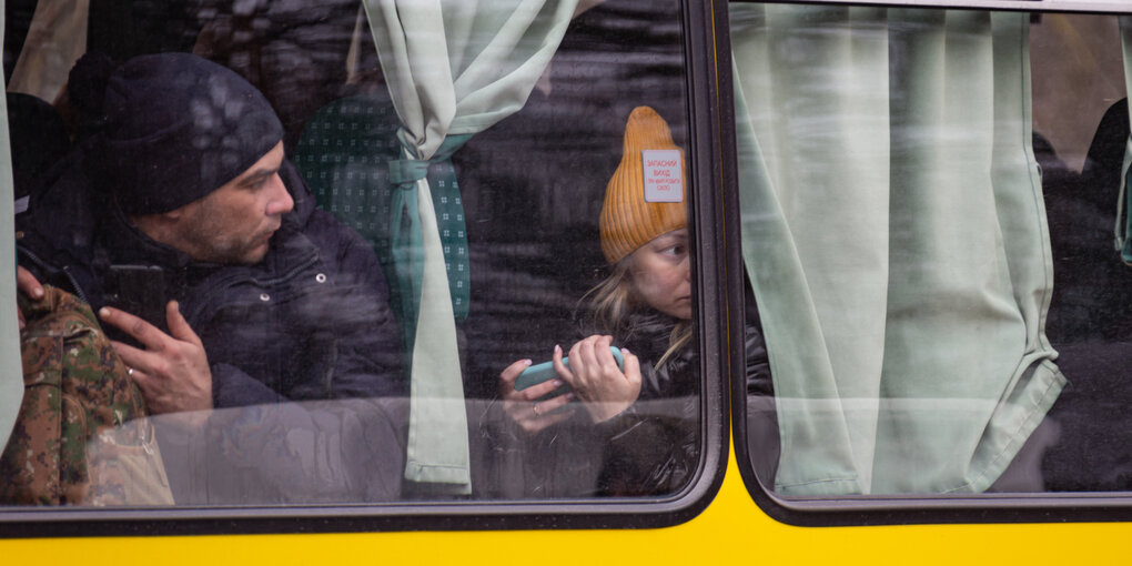
[[[607,261],[616,264],[658,235],[688,225],[685,178],[684,152],[672,143],[668,122],[649,106],[633,109],[625,125],[621,163],[606,186],[601,206],[601,251]]]

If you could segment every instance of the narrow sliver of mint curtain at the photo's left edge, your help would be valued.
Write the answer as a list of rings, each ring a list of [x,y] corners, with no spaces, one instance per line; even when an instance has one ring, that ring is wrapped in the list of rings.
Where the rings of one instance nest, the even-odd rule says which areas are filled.
[[[0,0],[0,40],[3,38],[3,0]],[[0,41],[2,43],[2,41]],[[3,77],[0,76],[0,87]],[[2,88],[0,88],[2,91]],[[12,208],[11,143],[8,140],[8,104],[0,98],[0,452],[16,423],[24,401],[24,369],[19,361],[19,319],[16,314],[16,240]]]

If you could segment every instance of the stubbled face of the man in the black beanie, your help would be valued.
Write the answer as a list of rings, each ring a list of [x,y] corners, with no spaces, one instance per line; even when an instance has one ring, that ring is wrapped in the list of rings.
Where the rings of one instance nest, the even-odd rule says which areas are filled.
[[[278,171],[283,143],[208,196],[181,207],[173,245],[198,261],[251,265],[264,259],[268,241],[294,200]]]

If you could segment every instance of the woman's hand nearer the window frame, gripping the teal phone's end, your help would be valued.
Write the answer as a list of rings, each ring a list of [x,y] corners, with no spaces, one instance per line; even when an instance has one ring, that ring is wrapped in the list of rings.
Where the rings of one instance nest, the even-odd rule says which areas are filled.
[[[628,350],[625,371],[609,352],[612,336],[590,336],[569,350],[569,367],[563,363],[563,349],[555,346],[555,371],[582,400],[593,422],[609,420],[628,409],[641,395],[641,363]]]

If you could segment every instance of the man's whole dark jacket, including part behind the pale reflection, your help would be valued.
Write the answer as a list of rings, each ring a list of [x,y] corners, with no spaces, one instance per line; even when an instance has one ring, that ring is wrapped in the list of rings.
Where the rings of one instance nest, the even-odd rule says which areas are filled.
[[[161,267],[166,298],[204,343],[216,405],[189,434],[177,414],[154,419],[177,503],[398,498],[409,387],[370,246],[317,209],[284,163],[294,209],[264,260],[195,263],[91,189],[83,158],[68,156],[17,217],[19,261],[95,309],[110,265]]]

